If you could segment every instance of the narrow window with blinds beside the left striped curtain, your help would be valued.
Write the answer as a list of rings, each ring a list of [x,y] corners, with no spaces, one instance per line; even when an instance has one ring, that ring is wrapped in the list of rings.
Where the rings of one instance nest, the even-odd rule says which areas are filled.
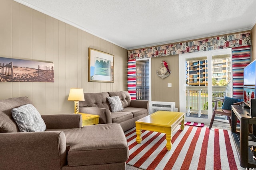
[[[136,60],[136,100],[149,100],[149,60]]]

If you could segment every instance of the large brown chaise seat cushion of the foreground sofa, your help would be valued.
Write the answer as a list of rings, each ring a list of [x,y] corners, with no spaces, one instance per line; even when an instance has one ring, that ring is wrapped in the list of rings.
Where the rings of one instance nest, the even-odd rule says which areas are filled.
[[[127,141],[119,124],[91,125],[61,131],[66,135],[69,166],[125,162],[128,159]]]

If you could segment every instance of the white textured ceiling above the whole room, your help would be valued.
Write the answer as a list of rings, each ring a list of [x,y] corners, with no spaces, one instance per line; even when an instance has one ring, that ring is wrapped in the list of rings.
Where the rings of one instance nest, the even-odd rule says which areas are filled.
[[[15,0],[125,49],[248,31],[256,0]]]

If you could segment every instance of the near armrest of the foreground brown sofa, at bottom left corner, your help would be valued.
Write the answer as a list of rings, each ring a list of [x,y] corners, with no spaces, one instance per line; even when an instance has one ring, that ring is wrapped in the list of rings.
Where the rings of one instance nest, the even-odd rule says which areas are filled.
[[[66,164],[64,132],[0,133],[1,169],[61,169]]]

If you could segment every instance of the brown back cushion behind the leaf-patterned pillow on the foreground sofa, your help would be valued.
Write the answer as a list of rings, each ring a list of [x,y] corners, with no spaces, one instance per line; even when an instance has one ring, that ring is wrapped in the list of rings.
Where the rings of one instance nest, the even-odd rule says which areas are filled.
[[[0,133],[19,132],[18,125],[12,118],[12,109],[24,104],[32,104],[28,97],[0,100]]]

